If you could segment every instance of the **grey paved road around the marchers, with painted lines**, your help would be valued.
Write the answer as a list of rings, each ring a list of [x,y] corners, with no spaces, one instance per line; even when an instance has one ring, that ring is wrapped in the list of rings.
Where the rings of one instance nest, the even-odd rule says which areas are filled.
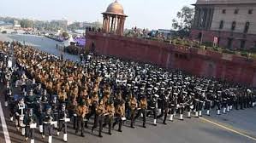
[[[9,36],[15,40],[21,40],[24,37],[19,36]],[[41,38],[44,38],[41,40]],[[1,40],[1,36],[0,36]],[[41,41],[40,41],[41,40]],[[55,49],[56,42],[46,39],[45,37],[27,37],[27,43],[33,43],[38,49],[59,54],[57,49]],[[42,42],[43,41],[43,42]],[[50,42],[51,41],[51,42]],[[45,42],[47,44],[45,45]],[[49,45],[48,45],[49,42]],[[44,44],[42,44],[44,43]],[[51,43],[51,44],[50,44]],[[78,57],[74,55],[67,54],[66,58],[71,60],[78,60]],[[3,85],[0,85],[0,101],[3,105]],[[1,108],[1,107],[0,107]],[[24,142],[24,137],[17,133],[15,130],[14,123],[9,121],[8,108],[2,107],[7,123],[9,136],[11,142],[21,143]],[[68,128],[68,142],[77,143],[256,143],[256,108],[248,109],[243,111],[233,111],[227,115],[216,116],[211,114],[211,117],[204,118],[192,118],[185,119],[185,121],[176,120],[174,123],[169,123],[164,125],[159,120],[158,126],[152,126],[152,118],[147,119],[147,129],[140,127],[142,123],[140,121],[136,122],[136,128],[130,129],[128,127],[123,128],[123,132],[119,133],[113,131],[110,136],[108,134],[103,134],[103,138],[98,138],[98,130],[91,134],[89,129],[86,129],[86,137],[82,138],[79,135],[74,134],[74,129]],[[214,123],[210,123],[214,122]],[[3,123],[0,121],[0,143],[4,143],[3,134]],[[126,126],[128,123],[126,123]],[[224,126],[224,127],[223,127]],[[227,127],[228,129],[225,129]],[[236,133],[234,133],[234,131]],[[107,132],[107,129],[104,129]],[[251,139],[247,137],[252,137]],[[36,142],[43,143],[47,142],[47,138],[42,140],[40,135],[36,134]],[[62,142],[62,134],[60,136],[54,136],[54,143]]]

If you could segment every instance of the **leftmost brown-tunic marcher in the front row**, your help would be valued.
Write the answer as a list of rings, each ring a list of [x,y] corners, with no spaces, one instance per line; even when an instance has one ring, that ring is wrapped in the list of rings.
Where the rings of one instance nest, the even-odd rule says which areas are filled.
[[[86,102],[85,101],[81,101],[80,105],[77,107],[77,125],[76,125],[76,130],[75,130],[75,134],[78,133],[78,131],[80,130],[80,135],[82,137],[85,136],[84,134],[84,128],[85,128],[85,119],[86,119],[86,114],[88,113],[88,107],[86,106]]]

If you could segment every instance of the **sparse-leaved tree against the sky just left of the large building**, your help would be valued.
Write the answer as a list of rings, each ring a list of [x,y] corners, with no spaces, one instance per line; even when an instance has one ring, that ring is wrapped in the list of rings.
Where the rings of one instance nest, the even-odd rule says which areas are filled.
[[[194,10],[185,6],[177,13],[177,19],[172,20],[172,27],[181,37],[188,37],[193,22]]]

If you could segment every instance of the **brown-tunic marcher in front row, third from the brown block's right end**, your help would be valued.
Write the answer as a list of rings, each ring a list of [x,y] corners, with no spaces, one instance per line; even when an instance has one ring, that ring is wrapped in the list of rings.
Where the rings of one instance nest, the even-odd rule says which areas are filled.
[[[115,128],[116,124],[118,123],[118,132],[122,132],[122,121],[125,117],[125,101],[122,100],[122,94],[117,95],[117,99],[115,102],[116,112],[115,112],[115,122],[113,123],[113,129]]]

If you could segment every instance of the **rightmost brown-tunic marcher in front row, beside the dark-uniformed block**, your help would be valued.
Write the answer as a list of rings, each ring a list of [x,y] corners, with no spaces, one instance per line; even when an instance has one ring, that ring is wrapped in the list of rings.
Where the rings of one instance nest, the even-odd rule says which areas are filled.
[[[146,101],[146,95],[142,95],[140,102],[139,102],[139,112],[137,113],[136,118],[140,117],[141,113],[143,116],[143,128],[146,128],[146,108],[147,108],[147,101]]]

